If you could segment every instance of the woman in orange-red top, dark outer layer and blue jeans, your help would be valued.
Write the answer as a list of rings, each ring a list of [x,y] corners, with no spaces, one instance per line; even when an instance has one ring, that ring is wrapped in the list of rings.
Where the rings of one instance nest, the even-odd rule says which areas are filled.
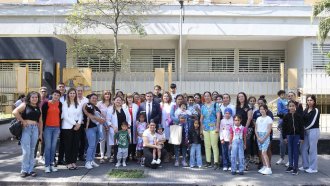
[[[60,121],[62,114],[62,103],[59,101],[61,93],[54,90],[52,99],[42,105],[42,118],[44,121],[45,141],[45,172],[57,172],[54,167],[57,138],[60,134]]]

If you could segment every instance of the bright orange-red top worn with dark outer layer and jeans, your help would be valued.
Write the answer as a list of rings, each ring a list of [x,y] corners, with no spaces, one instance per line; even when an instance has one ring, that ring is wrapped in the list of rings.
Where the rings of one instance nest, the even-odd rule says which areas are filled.
[[[48,102],[46,126],[48,127],[60,127],[60,102],[51,103]]]

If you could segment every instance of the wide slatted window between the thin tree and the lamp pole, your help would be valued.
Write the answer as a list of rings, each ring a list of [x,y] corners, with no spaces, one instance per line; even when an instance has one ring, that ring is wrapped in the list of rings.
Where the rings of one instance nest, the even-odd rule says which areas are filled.
[[[155,68],[164,68],[167,72],[169,63],[175,72],[174,49],[132,49],[130,55],[131,72],[154,72]]]

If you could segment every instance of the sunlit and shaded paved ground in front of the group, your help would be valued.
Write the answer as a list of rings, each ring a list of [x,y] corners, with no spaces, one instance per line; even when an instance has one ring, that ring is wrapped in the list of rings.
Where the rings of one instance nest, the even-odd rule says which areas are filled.
[[[276,161],[278,156],[273,157]],[[284,172],[284,166],[273,165],[273,175],[263,176],[252,170],[244,176],[232,176],[229,172],[213,169],[175,168],[172,164],[164,164],[157,170],[147,169],[130,162],[127,169],[142,169],[145,178],[112,179],[107,173],[114,164],[102,164],[99,168],[88,171],[80,162],[76,171],[59,166],[59,172],[46,174],[43,166],[38,166],[38,176],[22,179],[19,177],[21,149],[16,142],[6,141],[0,144],[0,185],[330,185],[330,155],[319,156],[319,173],[300,172],[292,176]]]

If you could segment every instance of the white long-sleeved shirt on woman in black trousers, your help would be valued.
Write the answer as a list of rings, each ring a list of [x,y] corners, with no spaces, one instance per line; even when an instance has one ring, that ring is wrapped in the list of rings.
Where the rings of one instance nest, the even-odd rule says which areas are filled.
[[[76,108],[74,104],[71,104],[68,107],[68,104],[64,103],[62,105],[62,119],[62,129],[72,129],[76,123],[81,124],[83,120],[82,106],[78,105]]]

